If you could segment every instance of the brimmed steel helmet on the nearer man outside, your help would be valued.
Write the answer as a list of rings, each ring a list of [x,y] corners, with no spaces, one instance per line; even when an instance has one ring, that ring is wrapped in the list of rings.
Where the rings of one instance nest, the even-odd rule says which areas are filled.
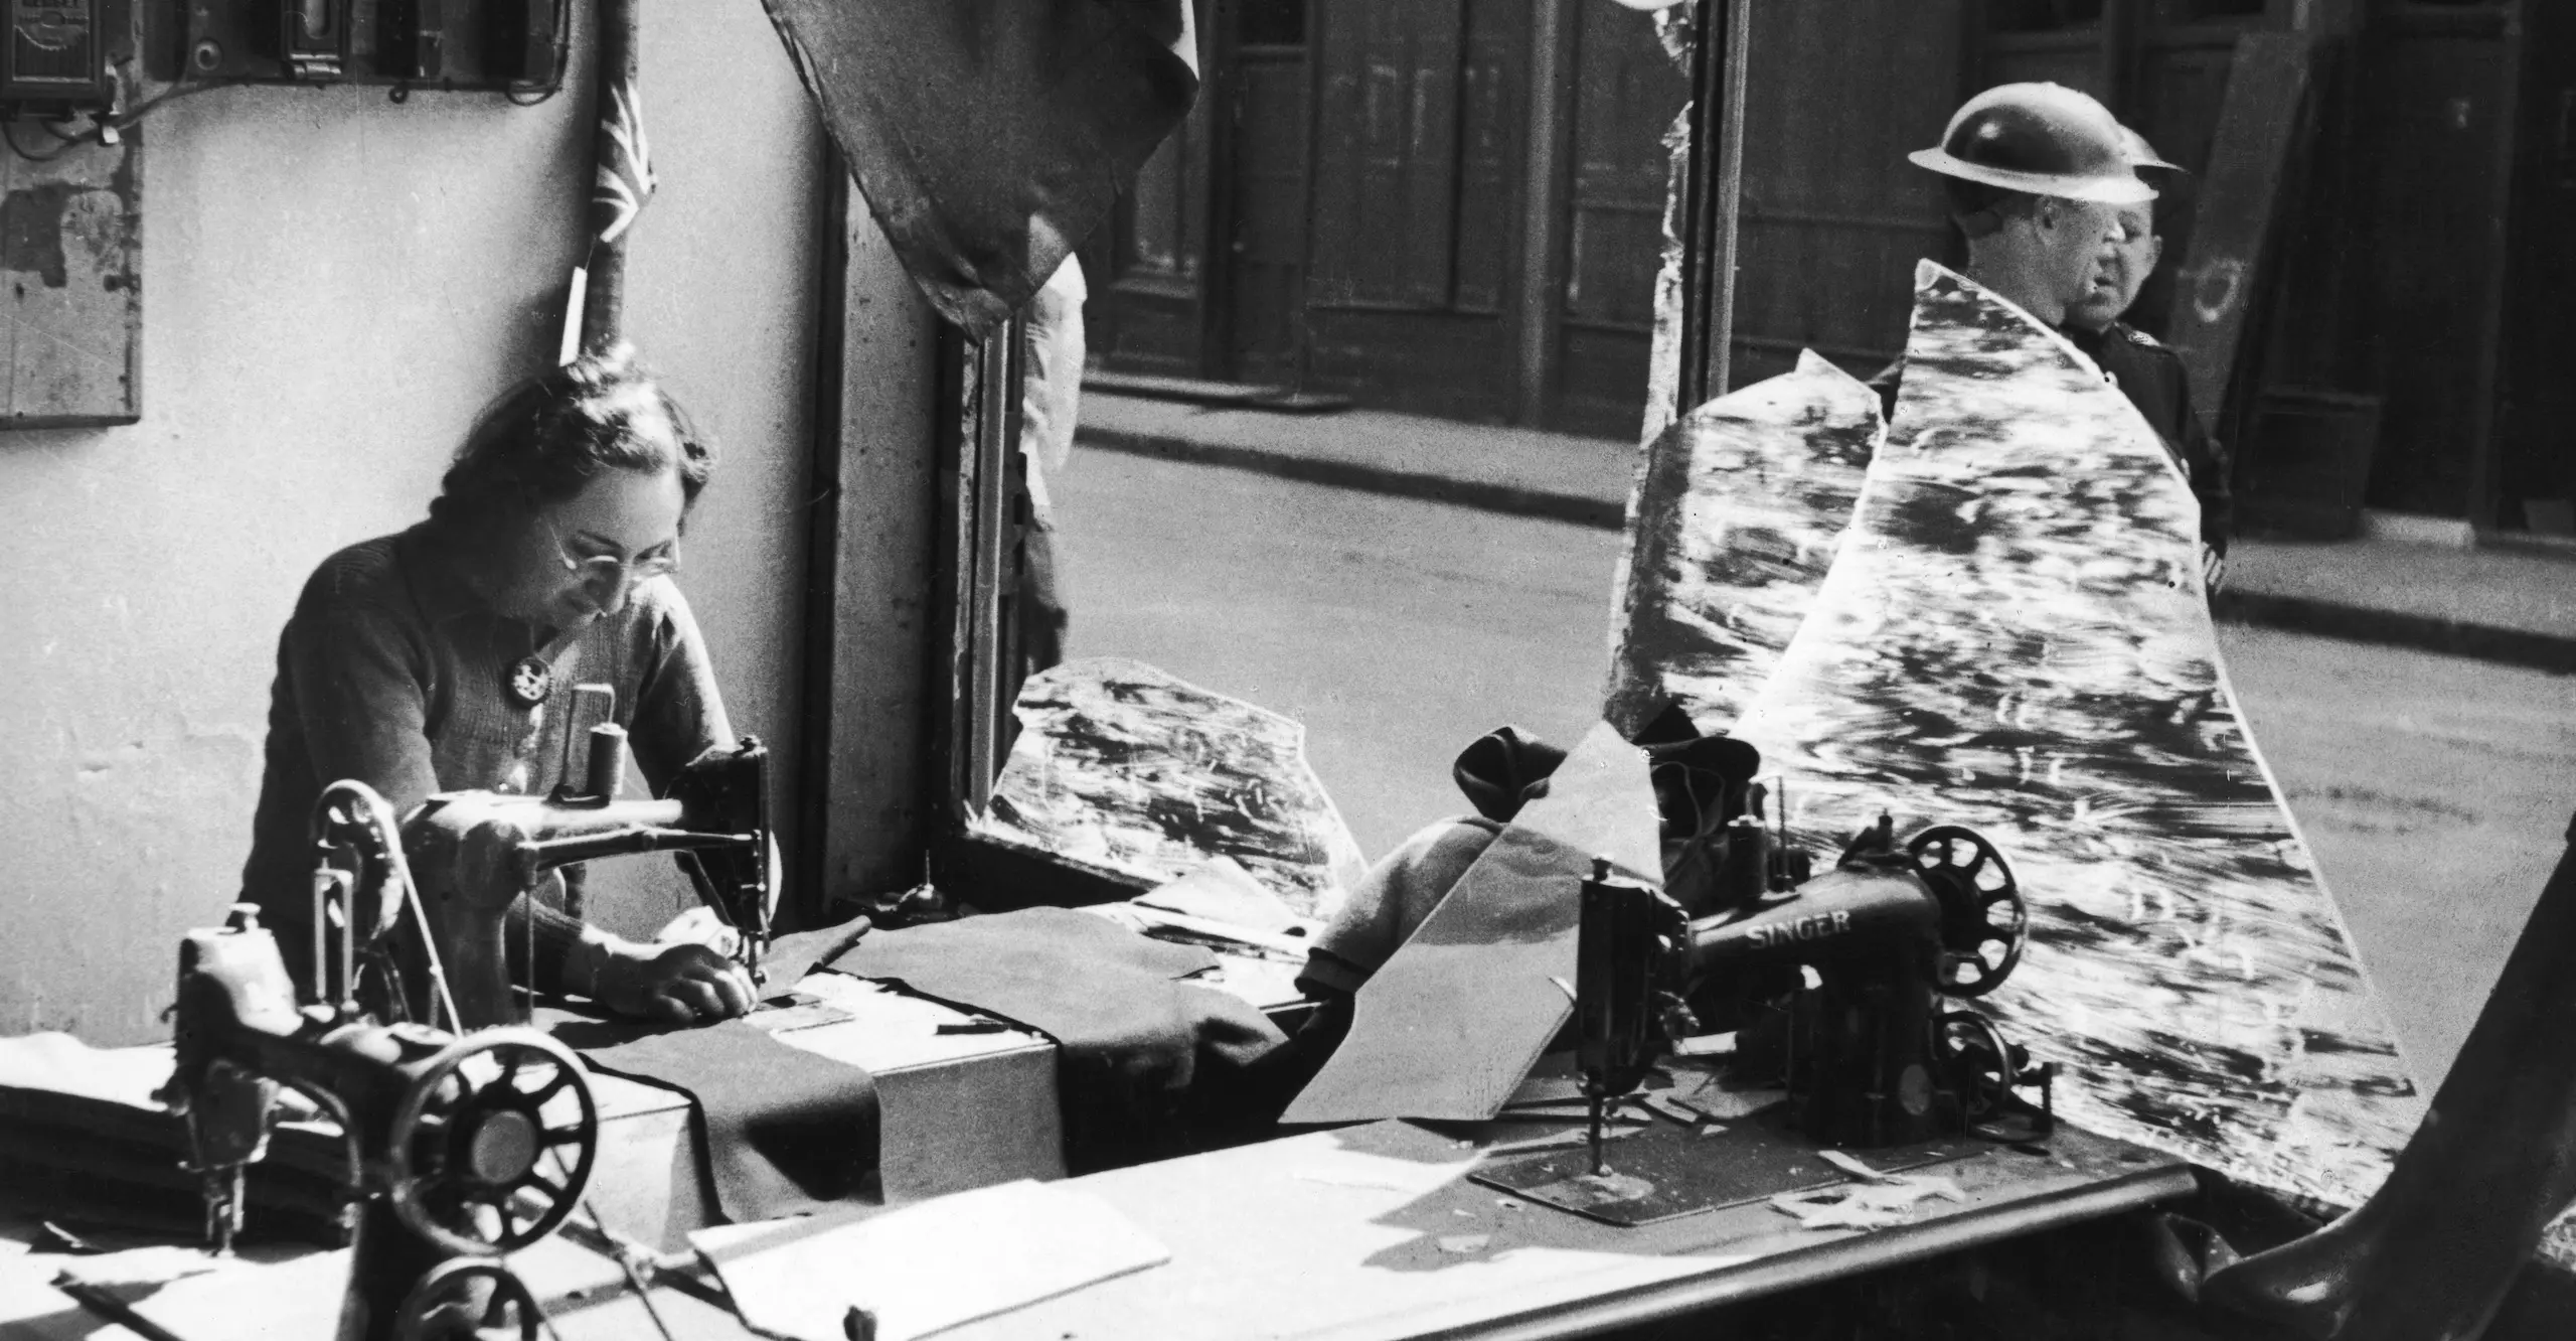
[[[2102,103],[2066,85],[2017,83],[1968,98],[1937,150],[1906,157],[1917,168],[2032,196],[2151,201],[2156,188],[2138,181],[2125,134]]]

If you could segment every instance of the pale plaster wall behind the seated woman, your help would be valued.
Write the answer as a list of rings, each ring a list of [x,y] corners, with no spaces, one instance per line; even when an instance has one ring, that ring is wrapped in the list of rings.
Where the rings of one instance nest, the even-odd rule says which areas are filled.
[[[144,418],[0,433],[0,1034],[167,1032],[175,939],[237,890],[307,573],[420,518],[474,410],[554,358],[590,178],[574,8],[538,108],[227,88],[142,124]],[[641,62],[662,191],[626,325],[724,446],[683,585],[791,792],[822,132],[747,0],[644,5]],[[667,910],[623,885],[611,921]]]

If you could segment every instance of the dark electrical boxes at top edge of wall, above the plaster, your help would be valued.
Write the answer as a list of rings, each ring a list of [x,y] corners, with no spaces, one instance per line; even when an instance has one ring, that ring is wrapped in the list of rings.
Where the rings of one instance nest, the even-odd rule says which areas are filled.
[[[572,26],[569,0],[147,3],[147,72],[173,83],[554,93]]]

